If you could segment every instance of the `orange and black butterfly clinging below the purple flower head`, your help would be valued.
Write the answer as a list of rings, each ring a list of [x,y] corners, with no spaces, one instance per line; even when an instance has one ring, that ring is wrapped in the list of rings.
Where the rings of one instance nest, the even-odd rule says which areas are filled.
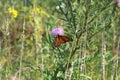
[[[62,43],[69,42],[69,41],[73,41],[73,39],[67,36],[58,35],[57,37],[55,37],[53,48],[56,48]]]

